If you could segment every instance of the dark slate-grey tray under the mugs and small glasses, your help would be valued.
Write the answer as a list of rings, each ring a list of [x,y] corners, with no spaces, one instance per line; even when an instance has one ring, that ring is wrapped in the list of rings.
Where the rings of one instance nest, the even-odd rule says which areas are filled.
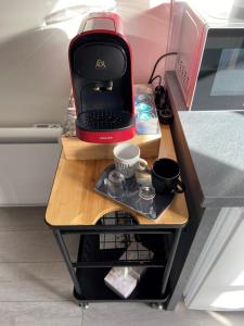
[[[168,205],[172,201],[174,196],[175,196],[174,193],[167,193],[167,195],[156,193],[154,201],[153,201],[153,211],[151,213],[143,213],[143,212],[139,211],[139,208],[138,208],[138,202],[140,200],[139,191],[138,191],[139,186],[145,185],[145,184],[146,185],[151,184],[151,178],[127,179],[126,180],[127,188],[129,189],[127,195],[119,199],[111,197],[106,191],[106,186],[104,185],[104,179],[107,177],[108,173],[114,168],[115,168],[115,166],[114,166],[114,164],[112,164],[104,170],[100,179],[95,184],[95,187],[94,187],[95,191],[100,192],[103,196],[108,197],[113,201],[118,202],[137,213],[140,213],[141,215],[143,215],[145,217],[153,218],[153,220],[158,218],[159,215],[168,208]]]

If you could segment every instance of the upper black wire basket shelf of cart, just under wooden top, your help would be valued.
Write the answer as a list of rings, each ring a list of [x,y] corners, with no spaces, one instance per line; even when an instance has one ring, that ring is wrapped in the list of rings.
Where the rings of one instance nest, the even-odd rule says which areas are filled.
[[[80,236],[74,267],[164,267],[172,235],[100,234]],[[132,244],[132,246],[131,246]],[[142,244],[142,246],[141,246]],[[130,249],[132,247],[132,249]],[[124,259],[120,256],[124,254]]]

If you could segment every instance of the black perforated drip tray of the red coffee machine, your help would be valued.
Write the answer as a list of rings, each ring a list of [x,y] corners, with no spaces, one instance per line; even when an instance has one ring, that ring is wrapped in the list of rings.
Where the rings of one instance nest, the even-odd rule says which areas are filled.
[[[90,131],[121,130],[131,127],[134,117],[126,111],[91,110],[81,112],[76,124],[80,129]]]

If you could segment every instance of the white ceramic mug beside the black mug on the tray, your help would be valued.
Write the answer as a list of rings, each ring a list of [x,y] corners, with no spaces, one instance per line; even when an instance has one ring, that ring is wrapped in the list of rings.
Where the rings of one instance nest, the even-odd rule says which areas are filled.
[[[147,162],[140,158],[140,148],[137,145],[124,142],[114,148],[115,167],[125,178],[132,177],[137,171],[145,171]]]

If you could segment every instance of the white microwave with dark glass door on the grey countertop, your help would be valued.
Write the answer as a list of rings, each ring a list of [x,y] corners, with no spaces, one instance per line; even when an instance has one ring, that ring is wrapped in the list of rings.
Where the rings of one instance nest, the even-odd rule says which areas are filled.
[[[172,16],[168,51],[178,53],[175,71],[187,108],[244,110],[244,20],[183,2]]]

